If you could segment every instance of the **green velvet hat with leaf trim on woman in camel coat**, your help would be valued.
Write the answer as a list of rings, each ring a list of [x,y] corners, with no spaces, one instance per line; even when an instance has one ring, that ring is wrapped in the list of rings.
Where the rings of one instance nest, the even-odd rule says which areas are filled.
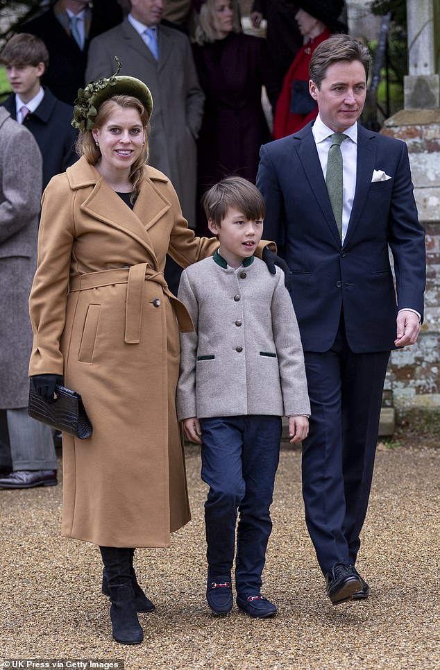
[[[135,77],[118,76],[121,63],[116,56],[115,60],[118,64],[115,74],[112,74],[108,79],[103,77],[98,81],[91,81],[85,88],[78,90],[78,97],[74,106],[74,118],[71,121],[74,128],[78,128],[80,131],[90,131],[92,128],[96,128],[95,118],[99,107],[104,100],[111,98],[113,95],[132,95],[142,103],[149,118],[151,117],[153,98],[149,87]]]

